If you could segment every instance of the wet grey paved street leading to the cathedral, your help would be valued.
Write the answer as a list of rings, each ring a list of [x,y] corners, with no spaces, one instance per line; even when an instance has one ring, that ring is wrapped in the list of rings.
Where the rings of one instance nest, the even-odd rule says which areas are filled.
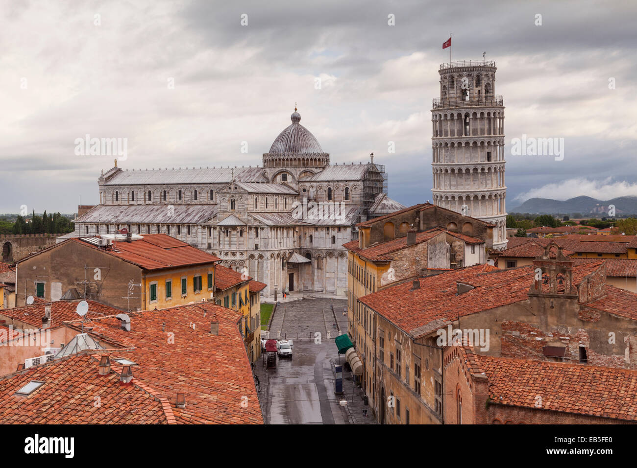
[[[343,394],[334,394],[333,363],[345,362],[334,337],[339,328],[347,332],[346,305],[344,299],[306,298],[277,306],[270,337],[278,338],[280,332],[280,339],[294,341],[294,351],[292,358],[277,358],[274,369],[266,369],[264,360],[257,363],[266,424],[373,423],[371,408],[364,406],[351,372],[343,370]],[[341,399],[347,404],[341,405]],[[363,409],[368,410],[367,418]]]

